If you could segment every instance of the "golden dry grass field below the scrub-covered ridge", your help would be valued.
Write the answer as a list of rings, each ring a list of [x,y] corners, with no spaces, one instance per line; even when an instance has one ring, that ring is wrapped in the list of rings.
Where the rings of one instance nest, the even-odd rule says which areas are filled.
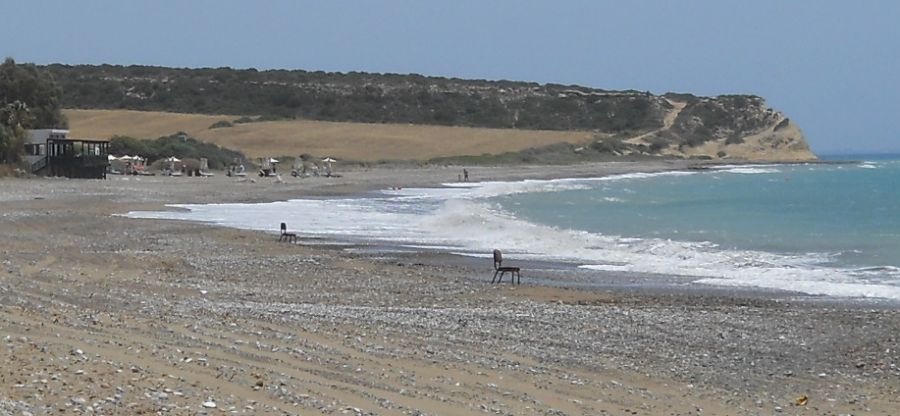
[[[590,132],[485,129],[404,124],[270,121],[210,129],[236,116],[129,110],[65,110],[71,136],[116,134],[156,138],[184,131],[198,139],[237,149],[250,157],[309,153],[338,159],[427,160],[441,156],[497,154],[553,143],[582,143]]]

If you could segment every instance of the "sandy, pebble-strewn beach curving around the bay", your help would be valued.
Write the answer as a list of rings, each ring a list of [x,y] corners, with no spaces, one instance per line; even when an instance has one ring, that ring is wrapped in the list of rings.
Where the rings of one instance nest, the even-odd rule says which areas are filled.
[[[613,273],[609,287],[537,283],[564,278],[546,270],[491,285],[489,261],[365,254],[302,231],[279,243],[277,218],[262,233],[120,216],[437,186],[461,169],[0,179],[0,414],[898,414],[896,307],[629,290]]]

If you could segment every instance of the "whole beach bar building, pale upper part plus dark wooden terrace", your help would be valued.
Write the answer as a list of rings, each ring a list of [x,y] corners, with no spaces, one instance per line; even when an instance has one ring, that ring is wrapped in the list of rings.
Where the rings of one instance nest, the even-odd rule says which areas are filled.
[[[62,129],[28,130],[25,161],[31,173],[67,178],[106,179],[109,141],[70,139]]]

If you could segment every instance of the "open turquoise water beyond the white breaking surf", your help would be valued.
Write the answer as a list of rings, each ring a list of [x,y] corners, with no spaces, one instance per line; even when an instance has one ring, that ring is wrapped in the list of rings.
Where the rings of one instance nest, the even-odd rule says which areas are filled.
[[[519,218],[606,235],[900,267],[900,160],[747,166],[498,197]]]

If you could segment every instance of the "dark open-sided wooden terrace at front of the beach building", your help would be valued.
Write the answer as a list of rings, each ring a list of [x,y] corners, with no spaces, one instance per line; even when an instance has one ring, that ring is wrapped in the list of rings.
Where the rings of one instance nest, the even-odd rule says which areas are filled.
[[[109,142],[47,139],[46,174],[67,178],[106,179]]]

